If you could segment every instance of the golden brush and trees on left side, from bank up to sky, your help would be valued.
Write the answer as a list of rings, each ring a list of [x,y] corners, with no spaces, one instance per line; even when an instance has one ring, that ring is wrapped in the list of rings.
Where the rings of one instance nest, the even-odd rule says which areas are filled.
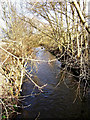
[[[13,113],[17,113],[18,100],[24,76],[41,90],[31,79],[31,72],[26,70],[26,65],[31,60],[31,65],[35,59],[34,47],[37,47],[38,34],[34,34],[34,28],[26,23],[21,16],[18,16],[15,6],[7,2],[2,4],[2,19],[6,23],[2,27],[0,44],[0,76],[2,77],[2,94],[0,102],[2,104],[2,119],[9,119]]]

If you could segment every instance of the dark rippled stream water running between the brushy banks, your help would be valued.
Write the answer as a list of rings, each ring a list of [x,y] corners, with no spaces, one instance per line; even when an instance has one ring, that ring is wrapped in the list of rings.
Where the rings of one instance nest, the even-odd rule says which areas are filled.
[[[37,59],[49,60],[55,57],[44,49],[37,48]],[[28,63],[28,70],[31,69]],[[17,120],[33,120],[33,119],[59,119],[59,120],[89,120],[90,116],[90,95],[84,102],[75,99],[75,89],[67,88],[64,83],[55,87],[60,81],[61,63],[53,61],[51,63],[37,63],[37,76],[33,77],[40,86],[47,84],[40,91],[30,82],[26,81],[22,86],[22,95],[30,95],[22,100],[23,106],[28,106],[21,110],[21,115],[16,117]],[[73,81],[74,78],[66,78],[66,82]],[[69,82],[70,83],[70,82]],[[36,95],[37,94],[37,95]]]

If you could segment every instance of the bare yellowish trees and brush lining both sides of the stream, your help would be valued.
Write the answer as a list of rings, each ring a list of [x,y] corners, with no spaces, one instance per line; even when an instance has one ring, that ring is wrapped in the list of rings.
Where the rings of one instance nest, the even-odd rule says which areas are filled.
[[[81,1],[82,2],[82,1]],[[25,8],[34,17],[18,14],[12,3],[2,3],[2,30],[0,45],[0,73],[2,76],[3,106],[2,119],[8,119],[16,112],[18,98],[26,75],[42,91],[26,71],[26,64],[31,60],[35,65],[33,48],[43,45],[55,53],[64,63],[64,71],[79,70],[76,97],[80,95],[80,85],[84,82],[84,93],[89,86],[89,29],[85,23],[86,1],[74,2],[28,2]],[[81,9],[77,9],[77,5]],[[84,19],[82,18],[82,16]],[[44,22],[45,21],[45,22]],[[3,44],[4,43],[4,44]],[[57,54],[58,53],[58,54]],[[36,65],[35,65],[36,66]],[[73,74],[72,74],[73,75]]]

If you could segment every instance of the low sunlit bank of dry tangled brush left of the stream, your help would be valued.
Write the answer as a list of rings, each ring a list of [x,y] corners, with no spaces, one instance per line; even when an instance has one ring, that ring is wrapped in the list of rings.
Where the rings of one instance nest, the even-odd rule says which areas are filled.
[[[12,48],[13,49],[13,48]],[[21,91],[21,64],[8,50],[7,43],[0,43],[0,117],[11,119],[18,114],[18,97]],[[22,76],[23,77],[23,76]]]

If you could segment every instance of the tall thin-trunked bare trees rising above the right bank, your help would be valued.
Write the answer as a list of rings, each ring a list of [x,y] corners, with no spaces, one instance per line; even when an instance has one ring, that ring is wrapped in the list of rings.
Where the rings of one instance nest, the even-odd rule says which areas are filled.
[[[28,22],[26,18],[30,25],[43,34],[41,43],[49,49],[53,48],[53,51],[56,50],[55,55],[64,64],[66,74],[73,73],[72,75],[78,78],[77,90],[80,91],[81,84],[84,84],[83,95],[85,95],[90,82],[88,66],[90,31],[86,22],[86,1],[56,0],[36,2],[34,5],[28,2],[27,10],[36,15],[41,23],[42,29],[32,21]],[[45,24],[41,20],[45,21]]]

